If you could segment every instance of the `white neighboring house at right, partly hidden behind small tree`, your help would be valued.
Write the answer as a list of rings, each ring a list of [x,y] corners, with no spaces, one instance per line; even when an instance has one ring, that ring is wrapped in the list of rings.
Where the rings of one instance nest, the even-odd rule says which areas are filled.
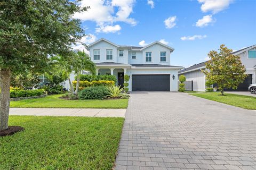
[[[246,68],[246,74],[248,74],[248,77],[243,83],[239,84],[236,90],[247,91],[249,84],[256,83],[256,45],[237,50],[232,54],[240,56],[242,64]],[[185,75],[186,81],[193,81],[194,91],[205,91],[206,80],[204,73],[201,71],[201,69],[205,69],[205,63],[195,64],[187,69],[180,70],[178,73],[179,75]]]

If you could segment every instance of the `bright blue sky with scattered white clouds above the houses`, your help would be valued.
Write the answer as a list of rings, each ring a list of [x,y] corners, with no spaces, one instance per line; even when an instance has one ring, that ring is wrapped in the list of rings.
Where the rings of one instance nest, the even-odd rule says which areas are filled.
[[[84,0],[81,5],[91,7],[75,14],[91,35],[84,43],[106,38],[143,46],[162,40],[175,49],[171,65],[203,62],[221,44],[233,50],[256,44],[256,1]]]

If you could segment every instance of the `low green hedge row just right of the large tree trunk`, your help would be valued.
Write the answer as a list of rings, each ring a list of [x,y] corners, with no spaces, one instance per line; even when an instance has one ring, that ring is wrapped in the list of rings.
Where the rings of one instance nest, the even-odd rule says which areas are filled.
[[[44,89],[39,90],[10,90],[10,97],[32,97],[44,95]]]

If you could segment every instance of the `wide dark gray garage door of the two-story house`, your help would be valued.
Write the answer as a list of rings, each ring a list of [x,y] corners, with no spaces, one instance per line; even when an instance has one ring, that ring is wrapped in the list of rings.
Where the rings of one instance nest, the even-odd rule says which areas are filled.
[[[133,74],[132,91],[170,91],[170,74]]]

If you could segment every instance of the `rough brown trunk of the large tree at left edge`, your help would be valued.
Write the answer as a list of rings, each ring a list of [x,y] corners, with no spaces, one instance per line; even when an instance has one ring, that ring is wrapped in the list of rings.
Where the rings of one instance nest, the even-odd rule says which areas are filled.
[[[11,70],[0,70],[0,131],[8,128]]]

